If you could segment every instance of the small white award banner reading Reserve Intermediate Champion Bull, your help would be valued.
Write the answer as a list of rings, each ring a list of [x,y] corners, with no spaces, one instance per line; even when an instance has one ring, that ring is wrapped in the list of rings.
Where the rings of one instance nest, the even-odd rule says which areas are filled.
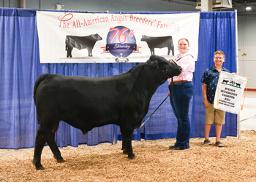
[[[214,108],[238,114],[243,101],[247,79],[221,71],[214,97]]]

